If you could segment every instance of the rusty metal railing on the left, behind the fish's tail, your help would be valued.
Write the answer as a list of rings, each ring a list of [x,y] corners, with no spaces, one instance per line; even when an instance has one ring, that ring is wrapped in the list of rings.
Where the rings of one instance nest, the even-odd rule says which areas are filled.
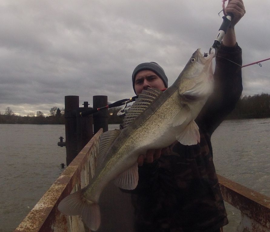
[[[35,207],[15,229],[16,232],[76,232],[85,230],[78,216],[67,217],[57,209],[60,201],[70,193],[85,187],[94,176],[96,154],[102,129],[86,144]]]

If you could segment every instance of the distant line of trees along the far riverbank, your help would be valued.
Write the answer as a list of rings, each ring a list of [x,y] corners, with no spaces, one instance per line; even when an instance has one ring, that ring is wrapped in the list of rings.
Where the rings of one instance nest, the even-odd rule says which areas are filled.
[[[117,115],[122,107],[108,109],[109,124],[123,123],[123,118]],[[254,96],[241,97],[235,109],[227,116],[227,119],[250,119],[270,117],[270,95],[267,93],[256,94]],[[5,124],[65,124],[65,109],[54,106],[50,110],[50,116],[45,116],[41,111],[36,114],[30,112],[27,116],[15,115],[10,107],[5,109],[5,113],[0,112],[0,123]]]

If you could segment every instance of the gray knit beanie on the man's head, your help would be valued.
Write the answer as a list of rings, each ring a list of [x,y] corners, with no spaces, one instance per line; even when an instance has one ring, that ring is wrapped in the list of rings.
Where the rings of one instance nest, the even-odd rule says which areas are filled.
[[[168,88],[168,78],[167,78],[164,70],[162,69],[162,67],[159,66],[156,62],[146,62],[146,63],[139,64],[134,69],[134,71],[132,73],[132,86],[133,86],[134,92],[135,92],[135,88],[134,88],[135,77],[136,77],[137,73],[142,71],[142,70],[151,70],[151,71],[155,72],[155,74],[157,74],[162,79],[165,87]]]

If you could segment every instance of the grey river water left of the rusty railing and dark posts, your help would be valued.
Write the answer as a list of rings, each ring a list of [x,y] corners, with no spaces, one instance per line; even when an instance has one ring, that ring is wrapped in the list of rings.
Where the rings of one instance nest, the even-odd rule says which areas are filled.
[[[0,231],[13,231],[62,173],[64,125],[0,124]]]

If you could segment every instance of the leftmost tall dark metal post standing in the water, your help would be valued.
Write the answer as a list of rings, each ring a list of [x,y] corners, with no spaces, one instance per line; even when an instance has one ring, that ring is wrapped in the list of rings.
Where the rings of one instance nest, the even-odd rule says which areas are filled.
[[[65,96],[65,135],[67,166],[78,154],[77,120],[75,111],[79,108],[79,96]]]

